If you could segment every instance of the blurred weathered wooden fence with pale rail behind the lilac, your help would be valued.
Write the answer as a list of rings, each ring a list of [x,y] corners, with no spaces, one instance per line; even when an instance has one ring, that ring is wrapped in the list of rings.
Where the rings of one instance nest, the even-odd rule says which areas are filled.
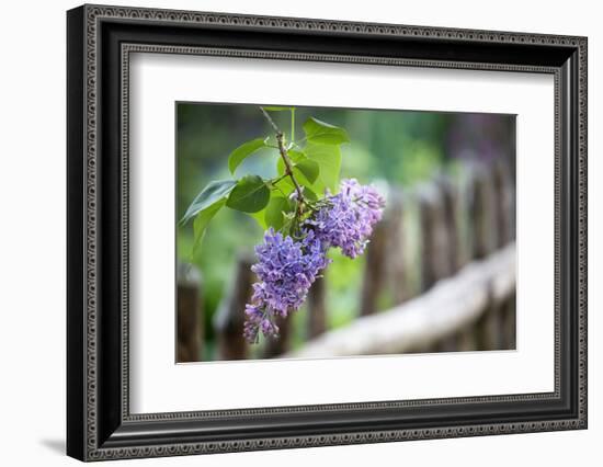
[[[261,356],[514,349],[513,178],[502,163],[474,166],[465,173],[462,179],[440,175],[411,191],[390,190],[366,251],[359,317],[343,328],[327,329],[328,277],[320,278],[308,296],[307,342],[292,352],[287,319],[278,322],[281,338],[269,341]],[[416,231],[409,231],[411,225]],[[247,255],[237,259],[231,287],[214,319],[223,360],[249,356],[242,322],[254,282],[252,262]],[[187,333],[201,328],[180,326],[181,319],[192,322],[187,314],[198,316],[201,299],[187,299],[186,287],[190,281],[179,284],[181,362],[201,360],[200,349],[186,349],[196,340]],[[379,310],[384,291],[392,308]],[[191,308],[181,309],[181,301]]]

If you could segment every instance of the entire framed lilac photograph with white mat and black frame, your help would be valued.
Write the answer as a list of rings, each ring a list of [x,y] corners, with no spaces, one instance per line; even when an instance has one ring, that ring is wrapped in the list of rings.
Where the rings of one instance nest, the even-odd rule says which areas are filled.
[[[587,38],[67,13],[67,453],[587,428]]]

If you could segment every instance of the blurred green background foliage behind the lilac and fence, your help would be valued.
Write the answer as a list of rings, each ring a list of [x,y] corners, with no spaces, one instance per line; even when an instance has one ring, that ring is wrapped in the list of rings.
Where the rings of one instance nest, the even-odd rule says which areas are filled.
[[[231,176],[228,155],[235,148],[273,132],[257,105],[179,103],[177,114],[177,209],[181,218],[209,181]],[[274,112],[272,116],[283,130],[289,132],[288,112]],[[471,121],[471,114],[297,107],[297,135],[303,135],[302,124],[310,116],[348,130],[351,143],[342,145],[341,179],[356,178],[361,183],[387,182],[409,187],[441,172],[457,173],[460,169],[452,157],[455,153],[465,151],[466,155],[467,150],[473,150],[474,155],[488,157],[488,151],[500,150],[501,144],[514,143],[509,138],[514,132],[514,119],[509,116]],[[467,130],[469,124],[473,126]],[[488,136],[490,146],[487,150],[483,149],[480,125]],[[494,130],[489,130],[492,125]],[[237,178],[248,173],[273,178],[276,161],[274,150],[260,149],[244,159],[235,174]],[[412,210],[405,216],[412,230],[416,216]],[[212,319],[232,277],[236,254],[241,250],[251,252],[261,239],[262,229],[253,218],[221,209],[212,220],[201,251],[192,258],[203,276],[206,358],[214,353]],[[408,242],[412,248],[417,239],[411,238]],[[192,246],[193,228],[189,223],[178,229],[180,261],[191,261]],[[337,328],[349,323],[359,314],[364,259],[352,261],[339,253],[330,254],[333,262],[325,272],[328,327]],[[409,277],[409,281],[416,280]],[[389,299],[384,297],[380,301],[386,308]],[[304,308],[295,314],[294,345],[305,340],[306,315]]]

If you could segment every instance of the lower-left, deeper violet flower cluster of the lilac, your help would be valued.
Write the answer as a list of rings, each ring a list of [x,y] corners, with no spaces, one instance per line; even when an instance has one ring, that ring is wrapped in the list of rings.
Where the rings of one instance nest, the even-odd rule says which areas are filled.
[[[318,273],[327,267],[322,243],[312,231],[305,231],[302,241],[283,237],[270,228],[264,242],[255,247],[258,263],[251,270],[260,282],[253,284],[252,305],[246,307],[243,334],[257,342],[261,330],[266,337],[278,334],[275,317],[287,317],[302,306]]]

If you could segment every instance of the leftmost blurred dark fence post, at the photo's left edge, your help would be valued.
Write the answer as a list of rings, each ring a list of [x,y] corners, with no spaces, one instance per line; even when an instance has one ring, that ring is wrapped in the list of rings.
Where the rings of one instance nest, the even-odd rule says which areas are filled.
[[[203,312],[201,273],[192,264],[179,263],[178,288],[178,363],[202,360]]]

